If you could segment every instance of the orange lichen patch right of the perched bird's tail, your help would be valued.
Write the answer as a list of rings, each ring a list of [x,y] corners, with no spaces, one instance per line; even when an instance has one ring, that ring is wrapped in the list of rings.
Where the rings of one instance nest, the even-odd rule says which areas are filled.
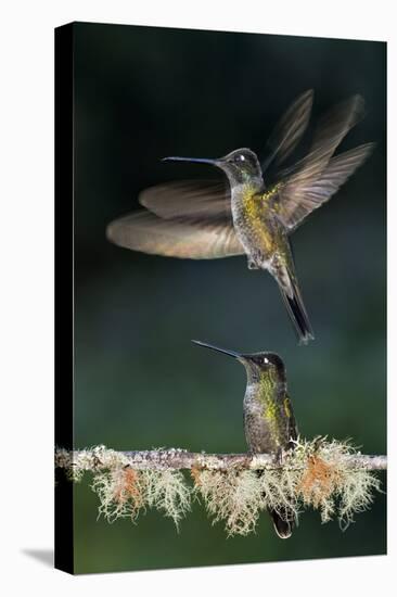
[[[298,492],[306,504],[311,504],[315,508],[318,508],[332,495],[338,480],[340,472],[335,466],[325,462],[319,456],[310,456],[307,470],[304,472],[298,485]]]

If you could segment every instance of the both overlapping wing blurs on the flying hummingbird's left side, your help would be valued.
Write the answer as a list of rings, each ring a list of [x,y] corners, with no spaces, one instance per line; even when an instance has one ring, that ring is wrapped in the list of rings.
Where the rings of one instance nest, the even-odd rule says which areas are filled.
[[[116,219],[107,238],[126,249],[187,259],[244,254],[232,223],[229,186],[168,182],[142,191],[139,211]]]

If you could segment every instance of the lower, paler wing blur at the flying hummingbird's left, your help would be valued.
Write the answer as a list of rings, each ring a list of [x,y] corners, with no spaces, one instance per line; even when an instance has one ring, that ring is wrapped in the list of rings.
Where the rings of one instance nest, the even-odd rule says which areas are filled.
[[[185,259],[216,259],[244,254],[231,221],[161,219],[146,211],[111,223],[110,241],[119,246]]]

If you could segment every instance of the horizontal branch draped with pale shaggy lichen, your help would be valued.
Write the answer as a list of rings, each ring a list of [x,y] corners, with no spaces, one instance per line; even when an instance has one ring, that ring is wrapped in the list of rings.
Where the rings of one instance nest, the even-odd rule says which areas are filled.
[[[299,439],[278,461],[267,454],[205,454],[184,449],[115,452],[105,446],[68,452],[57,448],[55,466],[80,481],[93,473],[92,490],[99,513],[110,522],[156,508],[177,528],[194,498],[204,504],[214,522],[223,520],[229,535],[255,530],[260,511],[298,513],[318,509],[322,522],[337,517],[345,530],[354,513],[369,509],[381,482],[373,471],[384,470],[386,456],[369,456],[347,442],[324,437]],[[182,470],[190,470],[193,484]],[[258,474],[258,471],[262,471]]]

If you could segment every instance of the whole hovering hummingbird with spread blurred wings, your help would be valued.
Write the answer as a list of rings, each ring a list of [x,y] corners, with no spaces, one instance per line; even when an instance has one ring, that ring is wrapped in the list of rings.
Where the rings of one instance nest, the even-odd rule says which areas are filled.
[[[272,177],[269,166],[279,167],[306,131],[312,96],[312,90],[306,91],[286,111],[268,140],[262,164],[246,148],[214,160],[165,157],[217,166],[229,185],[191,180],[146,189],[139,196],[146,209],[111,223],[107,238],[135,251],[181,258],[245,254],[249,269],[266,269],[273,276],[298,339],[306,344],[313,333],[290,236],[340,189],[373,148],[366,143],[333,156],[363,114],[362,98],[354,96],[320,119],[308,153],[293,166],[278,168]]]

